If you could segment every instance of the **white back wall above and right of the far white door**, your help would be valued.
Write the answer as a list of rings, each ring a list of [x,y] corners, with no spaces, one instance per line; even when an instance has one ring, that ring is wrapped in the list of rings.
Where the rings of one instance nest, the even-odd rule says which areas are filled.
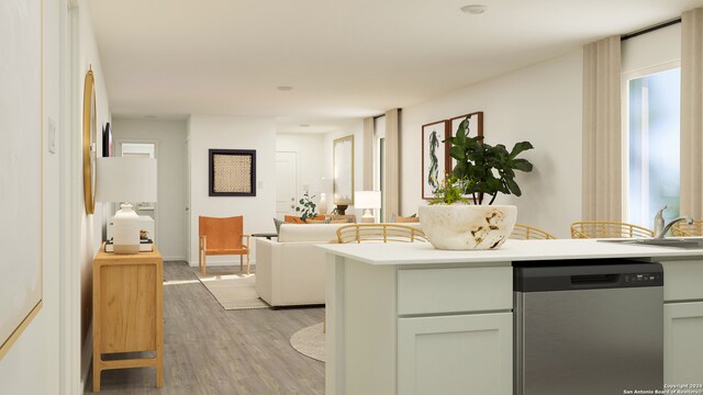
[[[317,204],[317,212],[320,212],[320,193],[324,192],[322,191],[324,149],[324,137],[320,134],[279,133],[276,136],[277,151],[298,154],[298,199],[295,201],[308,191],[310,195],[315,196],[313,201]],[[274,232],[272,224],[271,232]]]

